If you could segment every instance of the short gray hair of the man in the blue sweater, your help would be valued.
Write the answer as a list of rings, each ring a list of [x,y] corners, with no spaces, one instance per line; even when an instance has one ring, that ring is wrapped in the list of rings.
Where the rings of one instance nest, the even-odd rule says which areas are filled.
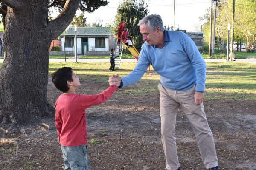
[[[157,27],[160,28],[161,32],[164,31],[162,17],[158,14],[152,14],[152,15],[145,16],[143,19],[141,19],[139,21],[137,26],[140,26],[142,24],[148,24],[148,27],[149,27],[149,29],[151,29],[151,31],[156,31]]]

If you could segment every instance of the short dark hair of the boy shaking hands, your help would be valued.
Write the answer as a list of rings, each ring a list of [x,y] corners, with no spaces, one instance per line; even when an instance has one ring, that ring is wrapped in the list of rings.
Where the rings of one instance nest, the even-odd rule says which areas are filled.
[[[67,81],[73,82],[71,67],[62,67],[52,73],[53,84],[63,93],[66,93],[70,89],[67,86]]]

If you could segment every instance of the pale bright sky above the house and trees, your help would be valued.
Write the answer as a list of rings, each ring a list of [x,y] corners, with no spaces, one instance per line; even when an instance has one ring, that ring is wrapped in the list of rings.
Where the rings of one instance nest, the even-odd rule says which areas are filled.
[[[85,13],[87,23],[93,23],[96,20],[102,20],[105,23],[113,22],[117,14],[119,2],[122,0],[108,0],[108,6],[100,7],[93,13]],[[145,0],[147,3],[148,0]],[[188,32],[200,32],[201,23],[199,17],[205,14],[205,9],[211,5],[210,0],[175,0],[175,26]],[[159,14],[162,17],[163,24],[168,27],[174,26],[174,6],[173,0],[150,0],[148,2],[149,14]],[[77,11],[76,15],[81,11]],[[195,25],[199,27],[196,30]]]

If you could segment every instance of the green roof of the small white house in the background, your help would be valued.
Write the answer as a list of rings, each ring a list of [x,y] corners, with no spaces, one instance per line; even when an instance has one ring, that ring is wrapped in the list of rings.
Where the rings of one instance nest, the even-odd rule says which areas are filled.
[[[77,27],[76,36],[109,36],[112,32],[110,27]],[[65,36],[75,36],[75,28],[68,28]],[[62,36],[64,36],[62,35]]]

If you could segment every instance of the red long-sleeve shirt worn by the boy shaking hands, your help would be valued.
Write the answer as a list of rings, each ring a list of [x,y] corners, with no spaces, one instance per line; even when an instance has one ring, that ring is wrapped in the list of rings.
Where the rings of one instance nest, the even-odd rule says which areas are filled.
[[[87,143],[85,109],[108,100],[117,86],[97,95],[61,94],[55,103],[55,126],[61,145],[74,147]]]

